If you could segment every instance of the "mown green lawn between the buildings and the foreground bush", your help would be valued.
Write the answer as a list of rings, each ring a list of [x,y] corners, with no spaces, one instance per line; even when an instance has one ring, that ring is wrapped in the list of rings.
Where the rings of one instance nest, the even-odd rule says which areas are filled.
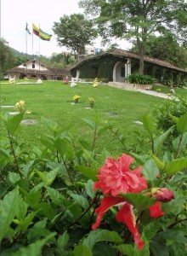
[[[72,105],[73,96],[81,96],[80,103]],[[93,109],[89,107],[89,97],[94,97]],[[139,92],[120,90],[107,85],[99,85],[94,89],[92,84],[70,85],[61,81],[43,81],[43,84],[1,84],[1,105],[14,106],[24,100],[26,110],[24,119],[36,119],[35,125],[21,125],[19,139],[26,147],[40,145],[39,138],[49,134],[48,128],[42,123],[41,117],[54,120],[59,127],[71,126],[71,134],[76,139],[91,142],[94,131],[82,121],[99,117],[100,127],[113,125],[115,129],[127,137],[127,144],[134,143],[137,137],[134,131],[143,132],[143,127],[134,121],[141,120],[144,113],[151,112],[163,99],[147,96]],[[14,108],[1,108],[1,113],[13,112]],[[1,124],[1,135],[6,131]],[[96,147],[106,148],[110,152],[119,150],[119,144],[111,140],[111,131],[105,131],[98,137]]]

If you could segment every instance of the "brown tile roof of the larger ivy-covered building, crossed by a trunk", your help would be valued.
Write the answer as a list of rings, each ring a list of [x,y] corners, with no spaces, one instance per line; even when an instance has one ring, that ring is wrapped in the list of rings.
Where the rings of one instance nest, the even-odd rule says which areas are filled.
[[[105,51],[104,53],[101,53],[99,55],[94,55],[92,57],[88,57],[87,59],[79,61],[76,65],[71,67],[71,69],[73,69],[75,67],[80,67],[83,62],[86,62],[86,61],[89,61],[89,60],[94,60],[94,59],[99,59],[101,56],[105,56],[105,55],[114,55],[114,56],[118,56],[118,57],[122,56],[122,57],[126,57],[126,58],[132,58],[132,59],[139,60],[139,55],[137,55],[133,52],[130,52],[130,51],[127,51],[127,50],[124,50],[124,49],[111,49],[111,50]],[[184,69],[176,67],[168,61],[162,61],[160,59],[149,57],[147,55],[144,56],[144,61],[145,62],[150,62],[152,64],[156,64],[156,65],[161,66],[161,67],[167,67],[167,68],[171,68],[173,70],[178,70],[180,72],[187,73],[187,71],[185,71]]]

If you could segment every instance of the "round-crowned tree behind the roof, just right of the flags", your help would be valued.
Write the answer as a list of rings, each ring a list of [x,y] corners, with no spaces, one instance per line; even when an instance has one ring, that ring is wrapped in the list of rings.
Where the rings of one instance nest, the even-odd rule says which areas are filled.
[[[85,20],[84,15],[64,15],[59,22],[54,22],[53,31],[59,45],[71,49],[77,56],[84,53],[85,45],[92,44],[97,37],[97,30],[92,20]]]

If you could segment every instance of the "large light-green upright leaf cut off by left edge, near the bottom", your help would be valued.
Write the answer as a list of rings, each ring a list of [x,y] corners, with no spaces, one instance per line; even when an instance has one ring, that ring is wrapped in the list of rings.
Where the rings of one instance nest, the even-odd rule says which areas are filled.
[[[18,198],[19,191],[18,187],[16,187],[4,196],[3,201],[0,201],[0,241],[2,241],[14,219],[15,210],[18,207]]]

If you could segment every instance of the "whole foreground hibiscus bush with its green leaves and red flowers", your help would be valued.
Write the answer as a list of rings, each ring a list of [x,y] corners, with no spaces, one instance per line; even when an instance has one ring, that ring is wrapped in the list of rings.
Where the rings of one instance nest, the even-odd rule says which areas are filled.
[[[161,148],[171,129],[160,133],[145,114],[150,150],[117,160],[105,149],[95,152],[97,137],[111,130],[97,117],[83,119],[93,143],[76,143],[42,118],[50,133],[42,148],[25,152],[16,140],[23,116],[2,117],[8,137],[0,148],[1,255],[185,255],[187,114],[174,119],[179,136],[167,155]]]

